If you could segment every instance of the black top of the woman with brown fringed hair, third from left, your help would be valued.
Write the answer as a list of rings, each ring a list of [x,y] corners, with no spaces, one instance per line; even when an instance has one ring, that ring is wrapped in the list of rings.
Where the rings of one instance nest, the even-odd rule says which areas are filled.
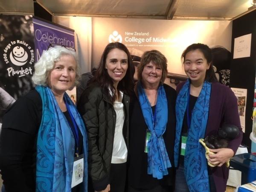
[[[134,94],[130,105],[130,145],[128,155],[128,185],[136,189],[153,189],[158,185],[171,186],[175,180],[174,140],[175,140],[175,100],[176,91],[164,84],[168,104],[168,122],[163,139],[172,167],[169,175],[161,180],[148,175],[148,155],[144,152],[147,125],[140,108],[140,102]],[[154,111],[154,108],[152,109]]]

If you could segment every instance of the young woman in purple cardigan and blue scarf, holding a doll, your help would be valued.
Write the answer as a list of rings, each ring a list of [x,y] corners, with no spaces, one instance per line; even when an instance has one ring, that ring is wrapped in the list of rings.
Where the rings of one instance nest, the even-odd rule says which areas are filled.
[[[207,45],[190,45],[182,53],[182,61],[189,79],[177,85],[175,191],[224,192],[229,171],[224,164],[242,140],[237,99],[229,87],[218,83]],[[215,153],[209,155],[209,163],[215,165],[211,168],[199,139],[217,134],[224,123],[237,126],[239,136],[227,148],[210,149]]]

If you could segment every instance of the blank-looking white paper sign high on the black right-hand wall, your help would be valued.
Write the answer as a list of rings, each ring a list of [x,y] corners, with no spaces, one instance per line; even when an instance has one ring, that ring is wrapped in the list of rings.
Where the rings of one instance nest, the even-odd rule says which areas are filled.
[[[235,38],[234,56],[233,56],[234,59],[250,57],[251,39],[252,39],[251,33]]]

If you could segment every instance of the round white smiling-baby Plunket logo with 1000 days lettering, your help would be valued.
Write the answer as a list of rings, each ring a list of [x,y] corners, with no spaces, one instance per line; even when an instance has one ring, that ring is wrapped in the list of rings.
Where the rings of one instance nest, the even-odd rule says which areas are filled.
[[[9,77],[32,75],[32,64],[35,61],[34,49],[25,41],[11,41],[3,50],[3,60],[10,66],[7,68]],[[26,67],[24,67],[25,64],[27,64]]]

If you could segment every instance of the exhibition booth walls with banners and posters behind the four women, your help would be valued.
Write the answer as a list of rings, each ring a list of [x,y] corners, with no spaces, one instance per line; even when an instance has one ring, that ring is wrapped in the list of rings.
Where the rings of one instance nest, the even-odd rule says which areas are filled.
[[[0,15],[0,123],[6,109],[35,87],[31,80],[34,64],[49,44],[75,48],[81,74],[98,66],[105,46],[111,42],[125,44],[137,56],[157,49],[168,60],[166,83],[176,87],[180,79],[186,79],[180,59],[183,50],[192,43],[203,43],[230,52],[230,61],[221,67],[230,70],[229,87],[238,99],[243,145],[237,154],[256,153],[255,18],[256,10],[233,21],[53,16],[51,22],[32,15]],[[69,94],[75,96],[76,90]],[[254,160],[245,169],[256,169]],[[243,172],[244,166],[237,169]],[[241,183],[241,172],[231,171],[229,185],[245,184]],[[256,180],[253,177],[250,179]]]

